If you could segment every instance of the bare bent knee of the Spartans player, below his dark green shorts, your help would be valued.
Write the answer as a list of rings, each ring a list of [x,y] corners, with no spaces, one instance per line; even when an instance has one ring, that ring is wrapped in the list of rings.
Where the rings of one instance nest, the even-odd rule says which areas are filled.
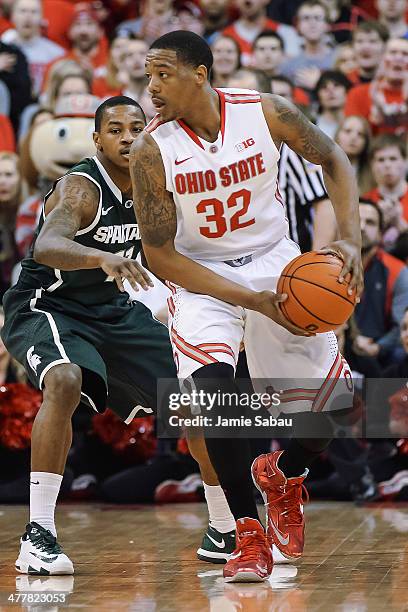
[[[74,363],[52,368],[44,378],[44,399],[53,400],[60,409],[72,411],[81,399],[82,372]]]

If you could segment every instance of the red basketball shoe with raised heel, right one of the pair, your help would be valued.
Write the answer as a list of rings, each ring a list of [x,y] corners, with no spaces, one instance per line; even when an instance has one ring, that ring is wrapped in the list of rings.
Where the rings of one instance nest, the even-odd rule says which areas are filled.
[[[302,555],[305,532],[303,491],[306,492],[305,501],[308,500],[303,484],[308,470],[297,478],[286,478],[277,465],[282,453],[275,451],[260,455],[252,464],[253,481],[265,502],[266,534],[275,561],[298,559]]]

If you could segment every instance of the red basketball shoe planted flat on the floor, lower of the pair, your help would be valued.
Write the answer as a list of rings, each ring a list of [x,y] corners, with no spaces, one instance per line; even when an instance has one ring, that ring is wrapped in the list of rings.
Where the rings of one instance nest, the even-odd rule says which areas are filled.
[[[237,520],[237,546],[224,566],[226,582],[263,582],[272,573],[272,552],[256,519]]]

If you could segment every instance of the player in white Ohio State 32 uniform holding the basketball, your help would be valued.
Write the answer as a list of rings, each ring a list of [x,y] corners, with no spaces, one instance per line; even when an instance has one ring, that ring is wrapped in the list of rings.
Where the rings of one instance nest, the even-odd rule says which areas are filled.
[[[146,74],[158,114],[131,151],[144,251],[151,270],[172,289],[169,324],[178,375],[207,393],[234,392],[244,339],[251,377],[286,379],[284,409],[297,413],[301,424],[307,418],[321,426],[325,411],[350,408],[352,384],[334,334],[292,325],[279,309],[286,296],[273,293],[282,269],[299,254],[287,238],[277,193],[279,147],[286,142],[322,166],[340,233],[325,251],[343,259],[339,280],[350,272],[351,287],[360,293],[353,170],[341,149],[280,96],[212,89],[211,66],[208,45],[191,32],[172,32],[152,44]],[[308,379],[307,388],[295,388],[294,376]],[[342,405],[329,401],[336,394]],[[214,422],[223,410],[213,407]],[[287,450],[255,460],[252,478],[267,504],[266,534],[253,498],[248,440],[213,433],[205,430],[208,453],[237,521],[236,550],[224,577],[265,580],[271,550],[286,559],[302,554],[303,481],[328,446],[330,428],[308,439],[295,430]]]

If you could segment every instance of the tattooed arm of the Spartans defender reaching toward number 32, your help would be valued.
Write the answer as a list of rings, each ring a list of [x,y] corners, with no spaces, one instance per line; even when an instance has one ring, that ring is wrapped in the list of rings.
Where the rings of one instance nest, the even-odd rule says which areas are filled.
[[[34,247],[37,263],[59,270],[102,268],[124,291],[123,278],[132,287],[152,286],[149,276],[135,261],[74,242],[78,230],[90,225],[99,204],[98,188],[87,178],[67,175],[46,202],[46,219]]]

